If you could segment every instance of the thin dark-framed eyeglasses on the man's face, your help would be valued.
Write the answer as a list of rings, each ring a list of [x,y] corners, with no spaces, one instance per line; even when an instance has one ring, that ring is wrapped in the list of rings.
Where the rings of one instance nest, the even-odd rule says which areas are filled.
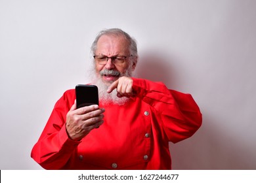
[[[125,62],[125,59],[131,56],[112,56],[112,57],[107,57],[107,56],[93,56],[95,60],[98,62],[100,65],[106,65],[108,62],[108,59],[111,59],[112,63],[115,65],[122,65]]]

